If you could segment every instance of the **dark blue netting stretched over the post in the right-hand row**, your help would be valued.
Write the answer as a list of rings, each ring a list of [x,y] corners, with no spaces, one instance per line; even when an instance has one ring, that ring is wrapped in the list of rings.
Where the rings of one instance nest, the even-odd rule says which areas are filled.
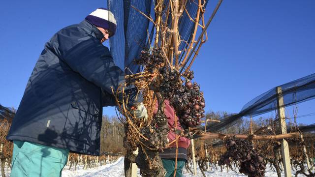
[[[315,98],[315,74],[294,80],[279,86],[282,89],[284,104],[280,107],[290,106],[292,104],[301,103]],[[258,116],[273,110],[278,109],[278,93],[277,88],[257,96],[250,102],[245,104],[242,111],[238,114],[226,115],[220,118],[221,122],[212,122],[207,125],[206,130],[211,132],[222,131],[242,118],[249,116]],[[314,131],[315,126],[304,127],[308,131]],[[205,126],[199,126],[198,129],[204,130]]]

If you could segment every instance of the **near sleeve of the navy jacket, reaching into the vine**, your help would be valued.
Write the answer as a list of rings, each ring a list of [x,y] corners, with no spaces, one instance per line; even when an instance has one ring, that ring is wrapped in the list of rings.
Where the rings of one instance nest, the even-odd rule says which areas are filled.
[[[73,71],[107,93],[112,93],[112,87],[116,91],[119,85],[125,82],[125,73],[114,64],[108,48],[97,39],[82,40],[60,54]],[[134,86],[126,87],[125,92],[129,94],[129,105],[142,101],[142,96],[135,100],[137,89]],[[122,95],[119,99],[122,100]]]

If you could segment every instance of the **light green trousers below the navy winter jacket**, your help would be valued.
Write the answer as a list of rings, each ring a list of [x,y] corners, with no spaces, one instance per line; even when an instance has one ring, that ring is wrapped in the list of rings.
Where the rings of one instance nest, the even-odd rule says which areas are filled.
[[[13,141],[10,177],[61,177],[68,149]]]

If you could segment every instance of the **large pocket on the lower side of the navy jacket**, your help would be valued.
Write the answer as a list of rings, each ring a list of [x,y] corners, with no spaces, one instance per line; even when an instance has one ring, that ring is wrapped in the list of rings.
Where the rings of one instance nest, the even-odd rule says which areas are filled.
[[[64,125],[63,136],[91,145],[99,135],[99,131],[98,113],[91,114],[84,111],[75,101],[72,101]]]

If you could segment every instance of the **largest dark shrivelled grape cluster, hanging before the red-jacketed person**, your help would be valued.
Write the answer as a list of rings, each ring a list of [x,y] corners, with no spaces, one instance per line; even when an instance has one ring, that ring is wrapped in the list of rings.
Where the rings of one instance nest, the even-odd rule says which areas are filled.
[[[159,91],[166,99],[170,100],[180,122],[189,127],[198,126],[200,118],[204,117],[205,112],[205,100],[200,86],[197,83],[192,84],[190,81],[183,85],[183,81],[177,78],[178,71],[169,67],[161,67],[159,74],[161,80]],[[186,74],[186,78],[193,78],[192,71],[188,71]]]

